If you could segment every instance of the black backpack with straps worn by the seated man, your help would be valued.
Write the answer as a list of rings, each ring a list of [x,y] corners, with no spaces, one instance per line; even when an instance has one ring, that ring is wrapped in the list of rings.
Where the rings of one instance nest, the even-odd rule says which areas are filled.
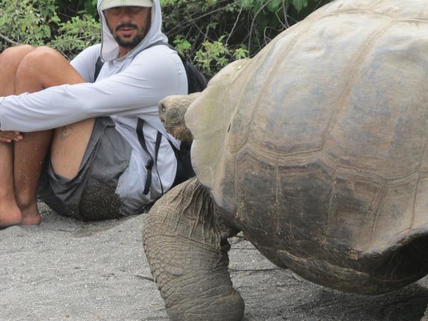
[[[163,41],[155,42],[154,44],[147,46],[146,49],[151,48],[153,46],[159,46],[159,45],[168,46],[170,47],[170,49],[175,50],[173,46],[170,46],[170,44],[167,44]],[[193,63],[188,58],[181,56],[179,53],[178,53],[178,56],[183,62],[183,66],[185,68],[185,74],[188,79],[188,93],[197,93],[199,91],[203,91],[207,86],[207,80],[205,76],[203,76],[203,73],[198,71],[198,69],[195,68]],[[101,60],[101,56],[100,56],[98,57],[95,64],[93,81],[96,81],[96,78],[98,78],[98,74],[100,73],[102,66],[103,66],[103,61]],[[136,129],[138,141],[140,141],[141,147],[149,156],[149,160],[146,164],[146,169],[147,169],[146,185],[144,186],[144,191],[143,191],[143,194],[147,195],[151,187],[153,165],[158,163],[158,151],[159,151],[159,147],[161,146],[162,134],[158,131],[158,134],[156,136],[156,143],[155,143],[155,157],[153,159],[153,156],[151,156],[151,154],[148,152],[148,149],[146,146],[146,140],[144,139],[144,134],[143,134],[143,125],[144,125],[144,120],[141,118],[138,118],[137,129]],[[169,140],[168,142],[170,143],[170,146],[173,148],[175,158],[177,158],[177,173],[175,174],[175,180],[172,185],[173,187],[195,176],[195,171],[193,170],[192,163],[190,161],[190,147],[192,143],[183,141],[181,142],[180,149],[177,149],[175,148],[173,143],[171,143]],[[157,170],[158,168],[156,167],[156,171]],[[158,176],[159,176],[159,173],[158,173]],[[162,182],[161,182],[161,191],[163,194],[164,190],[163,190]]]

